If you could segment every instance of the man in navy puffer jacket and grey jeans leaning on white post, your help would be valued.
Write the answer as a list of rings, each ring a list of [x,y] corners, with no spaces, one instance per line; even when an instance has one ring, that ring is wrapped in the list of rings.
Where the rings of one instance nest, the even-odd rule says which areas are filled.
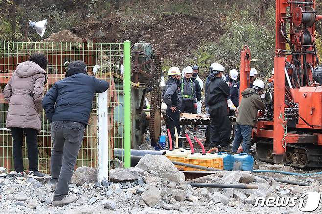
[[[52,150],[50,159],[51,183],[56,187],[54,206],[76,200],[68,197],[77,155],[88,125],[95,93],[106,91],[109,84],[87,75],[83,61],[69,64],[64,79],[57,81],[46,93],[42,105],[51,122]]]

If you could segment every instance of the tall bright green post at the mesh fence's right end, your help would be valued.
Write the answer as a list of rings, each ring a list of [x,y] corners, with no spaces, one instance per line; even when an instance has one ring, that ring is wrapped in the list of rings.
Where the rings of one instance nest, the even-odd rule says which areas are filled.
[[[124,167],[131,167],[131,42],[124,41]]]

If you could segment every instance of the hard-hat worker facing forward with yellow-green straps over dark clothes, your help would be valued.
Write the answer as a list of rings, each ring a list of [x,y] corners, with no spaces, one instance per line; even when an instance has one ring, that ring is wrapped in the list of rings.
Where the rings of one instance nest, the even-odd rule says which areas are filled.
[[[188,114],[195,113],[195,111],[197,111],[196,84],[191,78],[191,76],[192,67],[185,67],[184,77],[182,77],[180,80],[180,89],[182,96],[182,104],[180,107],[180,111]],[[188,126],[184,126],[182,129],[182,135],[184,135],[184,133],[188,131]]]

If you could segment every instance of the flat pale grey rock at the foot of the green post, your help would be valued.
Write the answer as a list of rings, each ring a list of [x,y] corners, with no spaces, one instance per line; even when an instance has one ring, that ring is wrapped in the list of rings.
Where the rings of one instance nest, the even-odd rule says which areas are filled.
[[[144,172],[140,168],[115,168],[110,170],[109,178],[111,182],[123,182],[142,179]]]

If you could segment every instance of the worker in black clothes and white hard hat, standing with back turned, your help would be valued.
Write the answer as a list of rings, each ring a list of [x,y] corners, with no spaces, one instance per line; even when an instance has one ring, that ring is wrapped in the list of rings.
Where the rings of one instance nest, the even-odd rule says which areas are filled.
[[[230,122],[228,115],[227,98],[230,96],[230,87],[222,79],[224,67],[218,63],[212,66],[213,78],[210,79],[207,89],[210,122],[210,146],[226,147],[230,142]]]

